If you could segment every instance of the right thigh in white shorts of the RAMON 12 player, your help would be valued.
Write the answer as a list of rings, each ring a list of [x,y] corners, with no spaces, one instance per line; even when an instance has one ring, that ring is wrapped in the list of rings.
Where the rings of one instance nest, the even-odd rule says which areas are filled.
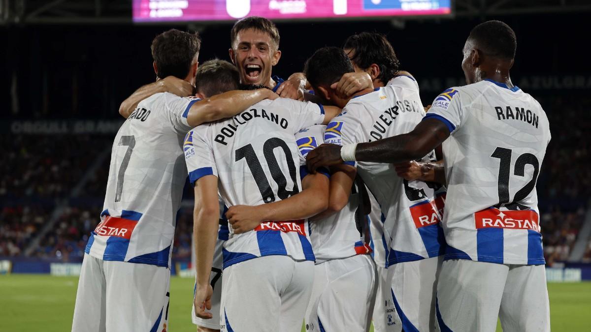
[[[550,331],[544,265],[510,265],[499,318],[503,331]]]

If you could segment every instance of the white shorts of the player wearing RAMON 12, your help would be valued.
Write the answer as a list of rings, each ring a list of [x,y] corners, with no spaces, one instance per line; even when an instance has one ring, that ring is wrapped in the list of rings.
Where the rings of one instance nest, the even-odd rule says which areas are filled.
[[[452,259],[437,285],[441,331],[550,331],[544,265],[507,265]]]

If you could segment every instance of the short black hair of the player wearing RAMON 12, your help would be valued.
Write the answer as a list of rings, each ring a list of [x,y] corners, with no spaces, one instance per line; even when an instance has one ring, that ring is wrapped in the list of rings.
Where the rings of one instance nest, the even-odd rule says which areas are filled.
[[[513,60],[517,49],[515,32],[501,21],[486,21],[470,31],[468,39],[486,55],[504,60]]]

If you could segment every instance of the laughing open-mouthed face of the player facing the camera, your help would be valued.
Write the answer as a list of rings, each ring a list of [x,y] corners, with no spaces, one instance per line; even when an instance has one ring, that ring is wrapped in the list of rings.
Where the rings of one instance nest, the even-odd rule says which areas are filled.
[[[262,31],[247,29],[238,32],[230,57],[238,67],[243,84],[269,85],[271,69],[279,62],[281,51],[271,37]]]

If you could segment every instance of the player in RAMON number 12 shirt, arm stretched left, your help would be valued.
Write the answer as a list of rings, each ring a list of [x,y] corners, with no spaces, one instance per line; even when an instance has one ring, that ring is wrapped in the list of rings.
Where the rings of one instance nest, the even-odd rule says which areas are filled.
[[[414,131],[309,154],[312,169],[343,160],[400,162],[445,141],[442,331],[494,331],[497,317],[504,331],[550,331],[535,191],[550,129],[540,104],[511,83],[516,47],[503,22],[477,25],[463,48],[468,85],[441,93]]]

